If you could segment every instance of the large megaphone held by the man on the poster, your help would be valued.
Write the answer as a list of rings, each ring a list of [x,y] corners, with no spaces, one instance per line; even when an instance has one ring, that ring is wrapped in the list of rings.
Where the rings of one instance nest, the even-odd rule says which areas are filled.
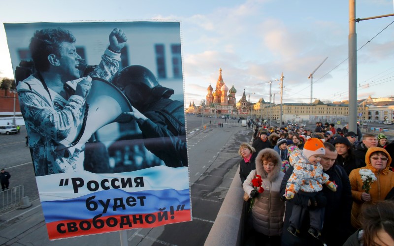
[[[56,151],[65,158],[70,158],[92,134],[101,127],[116,122],[123,112],[131,112],[127,97],[113,84],[101,78],[92,78],[92,87],[82,111],[82,123],[72,129],[67,138],[58,142]]]

